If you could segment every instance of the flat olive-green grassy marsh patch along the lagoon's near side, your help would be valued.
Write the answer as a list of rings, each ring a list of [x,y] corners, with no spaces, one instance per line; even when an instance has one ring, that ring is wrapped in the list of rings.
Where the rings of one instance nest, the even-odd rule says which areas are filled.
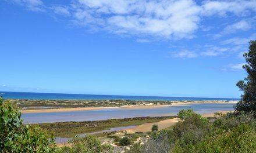
[[[101,130],[118,128],[121,126],[137,126],[143,123],[159,122],[175,117],[176,116],[137,117],[125,119],[108,119],[102,121],[40,123],[38,125],[43,129],[55,132],[56,137],[74,137],[76,134],[98,132]]]

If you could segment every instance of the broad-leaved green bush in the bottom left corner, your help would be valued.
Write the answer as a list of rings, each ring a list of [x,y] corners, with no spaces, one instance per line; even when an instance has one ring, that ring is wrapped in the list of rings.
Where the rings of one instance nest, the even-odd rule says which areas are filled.
[[[10,100],[0,98],[1,152],[55,152],[52,133],[38,126],[24,126],[20,110]]]

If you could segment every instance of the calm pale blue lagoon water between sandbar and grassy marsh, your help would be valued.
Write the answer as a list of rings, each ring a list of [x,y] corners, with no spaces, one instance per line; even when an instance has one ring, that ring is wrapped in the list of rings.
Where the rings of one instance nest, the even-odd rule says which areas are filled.
[[[218,104],[188,104],[173,105],[168,107],[125,109],[112,108],[92,111],[73,111],[73,112],[44,112],[22,114],[24,123],[48,123],[48,122],[67,122],[67,121],[97,121],[112,118],[132,118],[138,116],[169,116],[176,115],[179,110],[193,108],[200,114],[216,111],[233,111],[232,103]]]

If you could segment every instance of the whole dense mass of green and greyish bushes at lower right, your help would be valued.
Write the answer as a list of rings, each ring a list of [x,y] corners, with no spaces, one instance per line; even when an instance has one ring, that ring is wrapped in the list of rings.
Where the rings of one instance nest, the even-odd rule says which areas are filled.
[[[191,110],[182,116],[172,130],[152,132],[143,145],[130,152],[256,152],[256,120],[254,113],[218,114],[213,123]]]

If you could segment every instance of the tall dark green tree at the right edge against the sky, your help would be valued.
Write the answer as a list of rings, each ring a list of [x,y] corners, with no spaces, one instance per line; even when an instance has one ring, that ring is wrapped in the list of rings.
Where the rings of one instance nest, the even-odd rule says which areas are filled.
[[[256,41],[250,41],[249,44],[248,52],[244,53],[247,64],[243,65],[248,75],[243,81],[236,83],[244,92],[241,100],[234,107],[237,112],[256,112]]]

